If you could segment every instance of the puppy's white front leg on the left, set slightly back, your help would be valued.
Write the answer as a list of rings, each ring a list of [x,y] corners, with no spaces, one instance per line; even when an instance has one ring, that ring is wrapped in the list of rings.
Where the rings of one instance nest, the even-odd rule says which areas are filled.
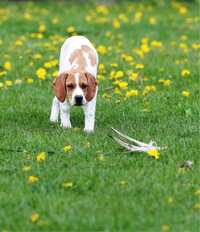
[[[71,128],[70,122],[70,105],[65,101],[60,103],[60,119],[61,119],[61,127],[63,128]]]

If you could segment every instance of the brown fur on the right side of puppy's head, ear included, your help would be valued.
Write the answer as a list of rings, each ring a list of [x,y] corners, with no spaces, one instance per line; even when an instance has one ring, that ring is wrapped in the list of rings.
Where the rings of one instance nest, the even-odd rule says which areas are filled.
[[[80,78],[80,79],[82,79],[82,78]],[[82,80],[84,80],[84,83],[87,83],[85,85],[85,90],[83,89],[83,91],[84,91],[86,100],[89,102],[95,96],[97,81],[96,81],[95,77],[93,77],[88,72],[84,73],[84,77]]]

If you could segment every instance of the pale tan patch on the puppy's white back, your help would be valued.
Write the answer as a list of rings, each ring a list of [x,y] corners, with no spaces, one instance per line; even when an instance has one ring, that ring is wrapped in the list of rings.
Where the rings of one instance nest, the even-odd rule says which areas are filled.
[[[74,71],[84,71],[86,70],[87,66],[87,61],[84,56],[84,53],[88,55],[88,58],[90,60],[90,63],[92,66],[96,65],[96,55],[94,51],[87,45],[82,45],[81,48],[74,50],[72,52],[69,62],[73,64],[74,62],[76,63],[77,67],[72,67]]]

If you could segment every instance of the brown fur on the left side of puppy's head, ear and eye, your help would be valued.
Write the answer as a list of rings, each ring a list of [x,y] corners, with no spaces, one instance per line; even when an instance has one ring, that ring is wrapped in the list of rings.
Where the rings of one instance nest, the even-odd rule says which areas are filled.
[[[70,97],[76,87],[75,75],[70,72],[64,72],[53,81],[53,90],[59,101],[64,102],[66,96]]]

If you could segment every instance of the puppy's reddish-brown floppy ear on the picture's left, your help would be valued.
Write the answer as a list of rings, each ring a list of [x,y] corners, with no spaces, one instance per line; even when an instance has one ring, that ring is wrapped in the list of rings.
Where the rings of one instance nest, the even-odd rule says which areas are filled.
[[[66,79],[68,77],[68,73],[63,72],[58,75],[58,77],[53,81],[53,90],[55,96],[59,101],[64,102],[66,98]]]

